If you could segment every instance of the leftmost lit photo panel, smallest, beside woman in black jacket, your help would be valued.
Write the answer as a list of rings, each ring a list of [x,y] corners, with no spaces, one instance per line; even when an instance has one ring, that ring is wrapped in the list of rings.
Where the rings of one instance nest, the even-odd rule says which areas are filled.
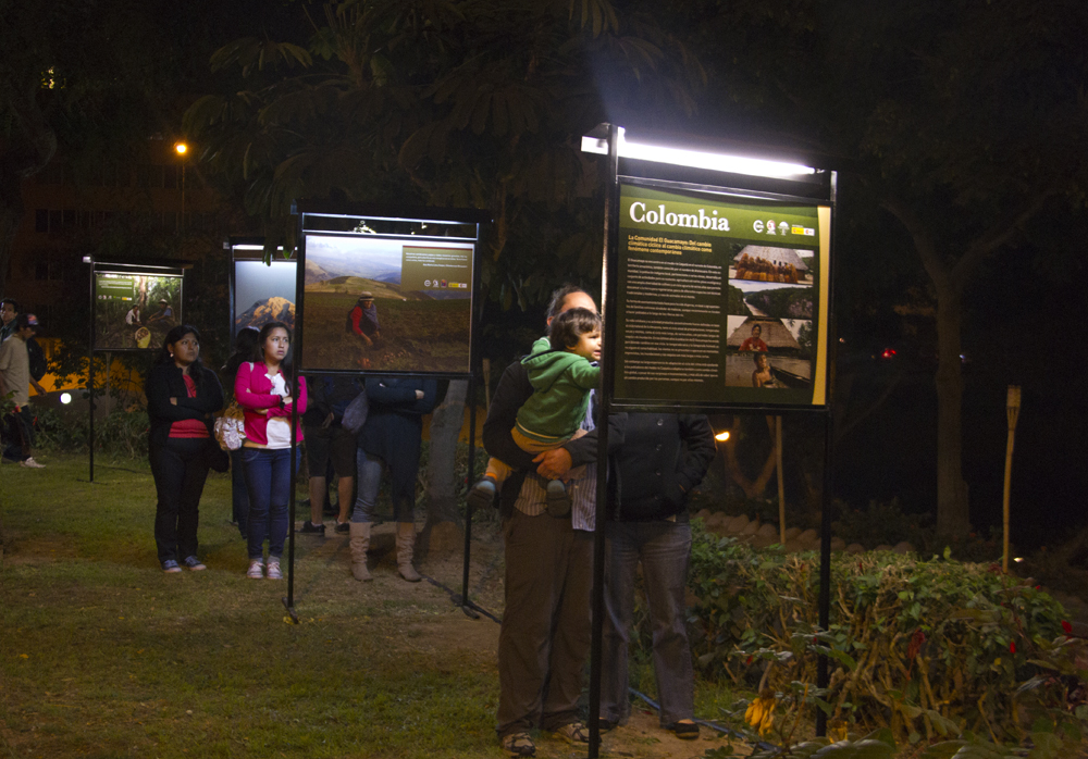
[[[96,272],[96,350],[150,350],[181,323],[181,276]]]

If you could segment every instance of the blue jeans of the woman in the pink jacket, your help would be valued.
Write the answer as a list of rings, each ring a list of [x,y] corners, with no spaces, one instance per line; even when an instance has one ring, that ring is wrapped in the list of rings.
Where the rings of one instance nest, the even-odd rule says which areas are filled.
[[[269,542],[269,558],[283,556],[287,538],[287,505],[290,499],[290,448],[243,448],[242,468],[249,493],[249,559],[264,558],[264,539]]]

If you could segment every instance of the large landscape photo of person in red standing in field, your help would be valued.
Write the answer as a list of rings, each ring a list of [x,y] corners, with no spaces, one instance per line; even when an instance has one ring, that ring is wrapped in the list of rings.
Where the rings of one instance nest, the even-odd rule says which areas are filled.
[[[301,365],[467,372],[472,242],[310,234]]]

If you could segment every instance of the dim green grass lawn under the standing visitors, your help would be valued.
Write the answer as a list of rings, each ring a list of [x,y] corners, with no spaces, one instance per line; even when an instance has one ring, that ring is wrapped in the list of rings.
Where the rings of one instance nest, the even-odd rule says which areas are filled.
[[[99,466],[89,484],[85,457],[42,460],[45,470],[0,469],[0,757],[504,756],[493,621],[469,620],[443,589],[384,564],[356,583],[346,537],[299,536],[301,623],[288,624],[286,581],[244,576],[228,475],[212,474],[201,501],[208,571],[168,575],[146,463]],[[500,551],[494,530],[477,532],[470,587],[497,615]],[[460,587],[460,557],[421,570]],[[731,700],[707,684],[697,696],[707,718]],[[605,754],[720,745],[673,749],[680,742],[652,729],[656,716],[640,720],[650,727],[609,734]]]

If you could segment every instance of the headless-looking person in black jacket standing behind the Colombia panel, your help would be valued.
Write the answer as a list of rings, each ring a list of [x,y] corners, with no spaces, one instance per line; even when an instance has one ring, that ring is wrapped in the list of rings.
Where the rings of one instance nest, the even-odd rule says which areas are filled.
[[[691,559],[688,496],[714,459],[714,431],[702,414],[625,414],[622,444],[609,446],[605,525],[605,620],[602,638],[602,726],[625,724],[628,644],[635,570],[653,623],[654,677],[660,723],[677,737],[698,737],[684,588]]]

